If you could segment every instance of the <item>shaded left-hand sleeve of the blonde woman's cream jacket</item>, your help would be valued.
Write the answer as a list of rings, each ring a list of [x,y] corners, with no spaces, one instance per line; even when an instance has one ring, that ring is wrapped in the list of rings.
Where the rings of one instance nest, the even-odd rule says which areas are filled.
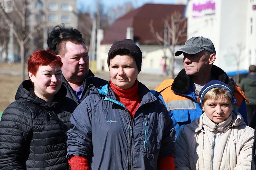
[[[174,158],[175,170],[190,170],[189,165],[189,153],[188,153],[188,141],[184,132],[184,128],[180,130],[180,133],[176,139],[177,154]]]

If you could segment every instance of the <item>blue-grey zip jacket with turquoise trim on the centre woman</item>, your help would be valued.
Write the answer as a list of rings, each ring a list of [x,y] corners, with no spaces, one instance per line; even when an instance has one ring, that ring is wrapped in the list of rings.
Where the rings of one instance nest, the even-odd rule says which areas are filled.
[[[150,170],[158,158],[174,156],[175,131],[159,93],[140,82],[138,93],[141,103],[131,120],[109,84],[92,90],[71,116],[67,157],[86,157],[92,170]]]

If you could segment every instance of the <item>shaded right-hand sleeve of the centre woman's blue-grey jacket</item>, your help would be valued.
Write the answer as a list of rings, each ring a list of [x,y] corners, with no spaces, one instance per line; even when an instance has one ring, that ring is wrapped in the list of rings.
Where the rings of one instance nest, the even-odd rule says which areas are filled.
[[[165,157],[165,156],[174,156],[176,154],[176,146],[174,143],[175,140],[175,130],[173,126],[172,119],[166,109],[164,107],[164,132],[159,152],[159,158]]]

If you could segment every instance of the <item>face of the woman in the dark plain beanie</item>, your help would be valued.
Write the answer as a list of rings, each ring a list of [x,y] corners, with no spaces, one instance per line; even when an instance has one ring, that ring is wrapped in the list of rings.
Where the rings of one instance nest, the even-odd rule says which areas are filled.
[[[116,55],[109,61],[110,78],[121,89],[131,88],[139,74],[135,59],[129,55]]]

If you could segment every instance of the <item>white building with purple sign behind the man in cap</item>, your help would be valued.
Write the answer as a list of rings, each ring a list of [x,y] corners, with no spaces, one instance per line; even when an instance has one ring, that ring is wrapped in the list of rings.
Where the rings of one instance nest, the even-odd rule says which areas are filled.
[[[233,76],[256,64],[256,0],[189,0],[187,38],[212,40],[215,65]]]

